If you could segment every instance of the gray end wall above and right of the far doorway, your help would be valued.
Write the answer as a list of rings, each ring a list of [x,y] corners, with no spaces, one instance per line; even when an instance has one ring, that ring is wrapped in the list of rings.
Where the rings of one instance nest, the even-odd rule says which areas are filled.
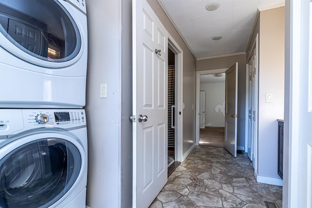
[[[227,69],[238,62],[237,146],[245,147],[246,54],[197,60],[196,71]]]

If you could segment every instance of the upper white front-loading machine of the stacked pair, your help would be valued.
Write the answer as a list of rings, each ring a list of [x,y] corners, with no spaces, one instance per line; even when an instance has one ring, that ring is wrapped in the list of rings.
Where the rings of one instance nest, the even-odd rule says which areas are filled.
[[[82,108],[85,0],[0,0],[0,108]]]

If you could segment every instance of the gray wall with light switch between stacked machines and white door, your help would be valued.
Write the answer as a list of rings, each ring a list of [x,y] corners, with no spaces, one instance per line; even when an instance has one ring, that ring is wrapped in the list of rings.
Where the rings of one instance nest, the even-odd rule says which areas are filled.
[[[131,0],[88,0],[87,205],[132,205]],[[121,15],[122,14],[122,15]],[[107,98],[99,98],[107,83]]]

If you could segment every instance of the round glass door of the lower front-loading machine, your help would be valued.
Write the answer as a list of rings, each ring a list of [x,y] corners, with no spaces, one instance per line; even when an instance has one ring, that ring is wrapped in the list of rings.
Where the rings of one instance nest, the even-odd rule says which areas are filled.
[[[75,183],[81,156],[59,138],[29,142],[0,160],[0,208],[47,208]]]

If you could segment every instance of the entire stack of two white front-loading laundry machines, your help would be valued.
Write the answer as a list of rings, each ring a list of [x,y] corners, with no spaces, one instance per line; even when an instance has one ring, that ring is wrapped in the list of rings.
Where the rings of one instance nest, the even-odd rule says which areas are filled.
[[[85,208],[84,0],[0,0],[0,208]]]

